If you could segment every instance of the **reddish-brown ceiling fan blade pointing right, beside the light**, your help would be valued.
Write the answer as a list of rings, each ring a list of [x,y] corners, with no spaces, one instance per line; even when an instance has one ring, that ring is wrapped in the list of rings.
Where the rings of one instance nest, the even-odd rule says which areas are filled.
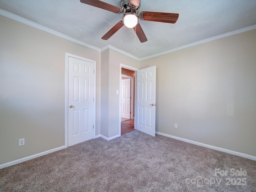
[[[157,21],[164,23],[176,23],[178,20],[178,13],[161,13],[161,12],[141,12],[140,19],[145,21]]]

